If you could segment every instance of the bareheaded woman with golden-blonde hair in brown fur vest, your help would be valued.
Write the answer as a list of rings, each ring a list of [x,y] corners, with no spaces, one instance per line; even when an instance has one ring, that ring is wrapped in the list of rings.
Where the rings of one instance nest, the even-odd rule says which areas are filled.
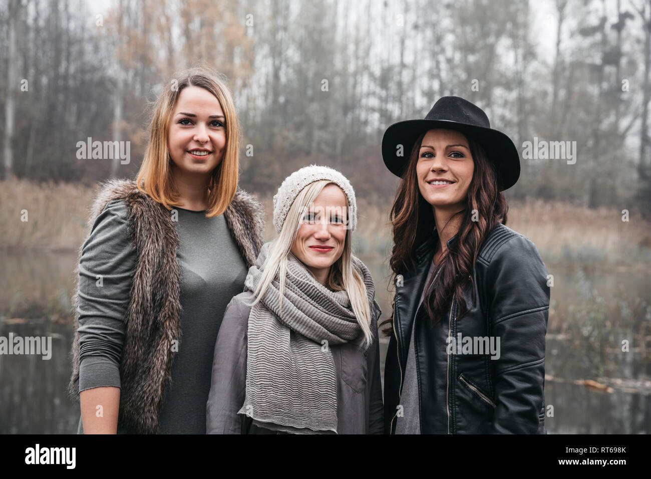
[[[158,96],[136,181],[102,185],[74,298],[79,433],[205,433],[219,325],[262,246],[239,140],[224,83],[185,70]]]

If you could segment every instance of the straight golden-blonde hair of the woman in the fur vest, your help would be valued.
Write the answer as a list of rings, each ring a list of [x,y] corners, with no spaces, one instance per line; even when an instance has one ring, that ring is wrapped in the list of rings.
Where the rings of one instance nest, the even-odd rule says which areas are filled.
[[[181,205],[171,176],[171,158],[167,136],[178,97],[186,87],[199,87],[212,93],[221,105],[225,117],[226,146],[219,166],[208,185],[206,217],[219,216],[230,205],[238,187],[240,153],[240,123],[232,95],[219,74],[205,66],[188,68],[174,75],[163,88],[154,104],[149,124],[149,141],[145,158],[138,172],[137,188],[167,209]]]

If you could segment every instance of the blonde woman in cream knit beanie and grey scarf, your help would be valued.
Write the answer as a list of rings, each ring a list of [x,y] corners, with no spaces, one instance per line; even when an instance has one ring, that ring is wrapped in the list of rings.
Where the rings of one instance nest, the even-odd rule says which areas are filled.
[[[262,246],[215,344],[206,432],[382,433],[380,306],[352,254],[355,192],[307,166],[273,197]]]

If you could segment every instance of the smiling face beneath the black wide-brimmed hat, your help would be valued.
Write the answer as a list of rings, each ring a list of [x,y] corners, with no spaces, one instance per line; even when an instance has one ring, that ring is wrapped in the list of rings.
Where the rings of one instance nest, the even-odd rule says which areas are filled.
[[[463,209],[475,163],[464,134],[436,128],[422,139],[416,164],[422,197],[441,210]]]

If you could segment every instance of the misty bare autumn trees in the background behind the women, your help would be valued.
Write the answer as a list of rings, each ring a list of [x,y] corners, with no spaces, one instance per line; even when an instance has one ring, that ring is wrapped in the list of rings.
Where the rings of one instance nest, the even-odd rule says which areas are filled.
[[[203,62],[234,91],[242,181],[261,191],[307,162],[391,188],[368,174],[383,130],[445,94],[477,102],[517,145],[577,141],[572,167],[523,158],[512,196],[596,206],[650,189],[650,0],[0,4],[5,177],[131,175],[137,161],[77,160],[76,141],[131,141],[137,159],[148,100]]]

